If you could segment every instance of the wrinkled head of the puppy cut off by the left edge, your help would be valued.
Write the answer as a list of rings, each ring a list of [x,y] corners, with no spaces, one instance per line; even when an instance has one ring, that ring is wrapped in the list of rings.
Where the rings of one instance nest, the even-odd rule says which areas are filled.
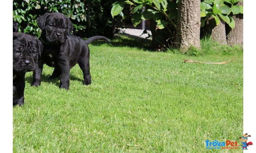
[[[35,36],[26,33],[12,33],[12,67],[16,72],[28,72],[36,69],[43,43]]]

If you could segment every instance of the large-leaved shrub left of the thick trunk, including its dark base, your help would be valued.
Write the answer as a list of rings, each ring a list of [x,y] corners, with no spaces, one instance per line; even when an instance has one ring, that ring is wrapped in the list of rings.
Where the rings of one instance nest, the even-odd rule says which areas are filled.
[[[153,48],[172,46],[177,27],[177,2],[176,0],[119,0],[113,4],[111,15],[123,16],[122,11],[125,7],[129,7],[132,14],[131,21],[135,27],[142,19],[150,20],[151,27],[154,28],[150,29]]]

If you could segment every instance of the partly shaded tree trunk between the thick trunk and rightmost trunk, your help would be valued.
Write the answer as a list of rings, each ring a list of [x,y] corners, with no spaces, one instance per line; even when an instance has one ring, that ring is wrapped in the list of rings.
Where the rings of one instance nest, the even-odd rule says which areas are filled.
[[[216,21],[213,17],[205,21],[204,27],[201,29],[201,37],[205,35],[211,35],[212,40],[218,42],[220,45],[227,44],[225,22],[220,18],[219,25],[216,25]]]

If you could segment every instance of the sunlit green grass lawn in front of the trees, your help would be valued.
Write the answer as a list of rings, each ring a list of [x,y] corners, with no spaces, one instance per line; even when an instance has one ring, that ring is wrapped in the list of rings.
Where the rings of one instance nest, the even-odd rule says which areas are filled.
[[[189,56],[145,51],[146,43],[126,37],[112,42],[89,45],[91,85],[78,65],[68,91],[47,79],[53,68],[46,65],[38,88],[26,74],[24,106],[13,108],[13,152],[220,152],[205,140],[240,144],[242,52]],[[223,65],[183,62],[235,55]]]

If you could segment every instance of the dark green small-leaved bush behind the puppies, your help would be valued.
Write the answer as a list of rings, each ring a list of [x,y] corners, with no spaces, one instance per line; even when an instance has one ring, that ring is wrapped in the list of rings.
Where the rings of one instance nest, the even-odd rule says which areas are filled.
[[[39,36],[41,31],[36,24],[36,18],[46,12],[60,12],[71,19],[73,33],[78,36],[113,37],[114,24],[122,20],[120,17],[111,17],[112,3],[114,0],[13,0],[13,20],[19,23],[19,32]]]

